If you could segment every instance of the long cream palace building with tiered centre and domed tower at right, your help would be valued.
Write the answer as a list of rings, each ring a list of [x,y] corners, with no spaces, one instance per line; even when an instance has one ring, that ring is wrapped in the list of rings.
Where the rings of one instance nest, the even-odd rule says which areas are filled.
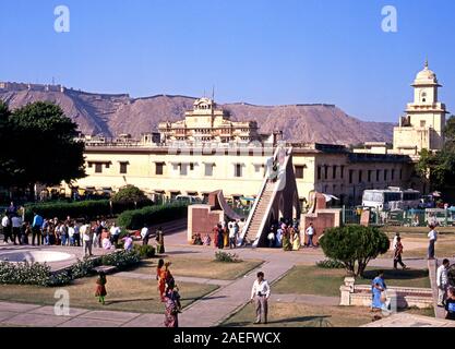
[[[201,98],[177,122],[159,123],[159,133],[141,140],[84,139],[87,177],[75,186],[117,191],[134,184],[149,195],[194,195],[223,190],[226,197],[255,197],[265,164],[279,143],[292,149],[299,198],[318,191],[361,203],[366,189],[421,188],[415,164],[421,149],[444,143],[445,106],[438,101],[436,75],[428,63],[415,83],[415,100],[394,130],[394,144],[367,143],[361,148],[318,143],[286,143],[280,133],[259,133],[256,122],[236,122],[214,100]],[[277,130],[279,131],[279,130]]]

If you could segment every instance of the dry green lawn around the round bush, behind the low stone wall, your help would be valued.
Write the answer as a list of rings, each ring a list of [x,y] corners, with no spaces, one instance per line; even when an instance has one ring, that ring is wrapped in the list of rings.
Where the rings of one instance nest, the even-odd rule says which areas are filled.
[[[370,285],[379,268],[369,267],[364,279],[359,285]],[[339,287],[344,282],[344,269],[323,269],[316,266],[297,265],[273,286],[275,293],[319,294],[339,297]],[[428,270],[393,270],[385,269],[387,286],[430,287]]]

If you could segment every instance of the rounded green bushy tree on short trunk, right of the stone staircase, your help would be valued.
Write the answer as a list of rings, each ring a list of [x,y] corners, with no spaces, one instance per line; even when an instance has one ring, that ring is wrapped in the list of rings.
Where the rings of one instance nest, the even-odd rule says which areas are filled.
[[[352,276],[363,276],[368,263],[390,249],[384,232],[375,227],[345,226],[324,231],[320,239],[324,254],[342,262]]]

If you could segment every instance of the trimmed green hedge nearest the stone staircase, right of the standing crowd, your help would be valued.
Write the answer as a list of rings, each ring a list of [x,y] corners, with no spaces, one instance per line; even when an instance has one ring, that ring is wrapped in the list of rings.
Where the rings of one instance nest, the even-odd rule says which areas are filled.
[[[144,226],[157,225],[172,219],[188,216],[188,204],[172,203],[148,206],[142,209],[125,210],[118,218],[119,227],[125,229],[141,229]]]

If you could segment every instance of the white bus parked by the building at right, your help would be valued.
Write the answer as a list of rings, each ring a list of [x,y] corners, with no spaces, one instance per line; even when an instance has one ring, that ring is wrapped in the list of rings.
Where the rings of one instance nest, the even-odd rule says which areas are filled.
[[[411,189],[366,190],[363,191],[362,206],[380,210],[418,208],[420,197],[420,192]]]

